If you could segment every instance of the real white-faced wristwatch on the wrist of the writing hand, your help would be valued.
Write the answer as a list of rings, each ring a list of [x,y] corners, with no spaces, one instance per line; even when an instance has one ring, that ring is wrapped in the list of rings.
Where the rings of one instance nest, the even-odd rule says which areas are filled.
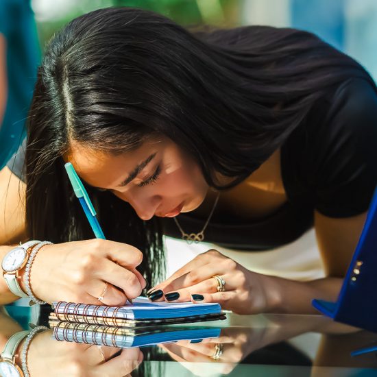
[[[28,241],[14,247],[7,254],[5,254],[1,267],[3,268],[3,277],[7,282],[10,291],[19,297],[28,297],[28,295],[21,289],[19,281],[19,271],[26,265],[29,258],[29,249],[35,246],[40,241]]]

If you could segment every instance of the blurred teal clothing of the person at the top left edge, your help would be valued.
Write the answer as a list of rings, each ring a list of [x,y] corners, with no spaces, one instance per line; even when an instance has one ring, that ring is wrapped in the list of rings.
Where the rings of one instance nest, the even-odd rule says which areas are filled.
[[[0,34],[6,41],[7,105],[0,125],[0,169],[25,136],[40,48],[30,0],[0,0]]]

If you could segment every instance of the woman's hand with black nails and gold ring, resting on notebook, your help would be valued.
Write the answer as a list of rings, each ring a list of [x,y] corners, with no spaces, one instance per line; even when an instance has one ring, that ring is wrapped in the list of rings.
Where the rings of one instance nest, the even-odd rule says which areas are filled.
[[[215,275],[226,283],[223,292],[217,291]],[[147,295],[152,301],[218,302],[221,308],[234,313],[254,314],[276,311],[276,285],[273,277],[254,273],[216,250],[209,250],[150,289]]]

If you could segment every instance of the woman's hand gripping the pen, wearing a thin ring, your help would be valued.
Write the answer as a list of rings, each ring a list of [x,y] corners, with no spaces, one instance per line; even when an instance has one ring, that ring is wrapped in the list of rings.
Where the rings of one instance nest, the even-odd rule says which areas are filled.
[[[102,239],[45,245],[32,264],[32,291],[50,304],[123,305],[145,288],[145,279],[136,271],[142,260],[136,247]],[[104,300],[99,301],[106,282]]]

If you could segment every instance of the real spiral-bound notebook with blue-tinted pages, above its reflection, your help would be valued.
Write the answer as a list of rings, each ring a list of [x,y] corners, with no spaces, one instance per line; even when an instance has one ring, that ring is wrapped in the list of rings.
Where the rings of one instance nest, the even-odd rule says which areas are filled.
[[[145,324],[147,321],[163,324],[165,322],[189,322],[197,321],[197,319],[221,319],[224,317],[219,304],[149,302],[146,297],[138,297],[134,300],[134,304],[127,303],[125,306],[53,302],[53,309],[53,317],[62,321],[113,326],[135,326],[138,323]]]

